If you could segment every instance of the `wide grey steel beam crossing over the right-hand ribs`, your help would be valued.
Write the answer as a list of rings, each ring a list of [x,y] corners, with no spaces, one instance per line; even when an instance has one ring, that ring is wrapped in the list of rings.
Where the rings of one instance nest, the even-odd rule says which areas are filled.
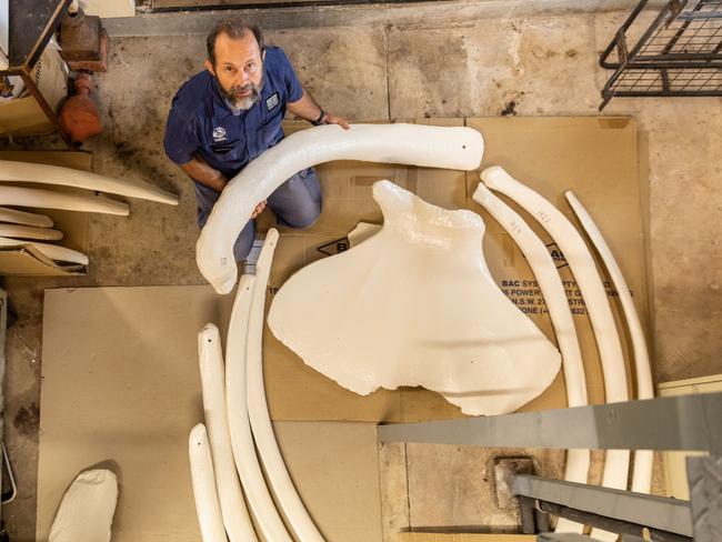
[[[722,454],[722,393],[379,426],[381,442]]]

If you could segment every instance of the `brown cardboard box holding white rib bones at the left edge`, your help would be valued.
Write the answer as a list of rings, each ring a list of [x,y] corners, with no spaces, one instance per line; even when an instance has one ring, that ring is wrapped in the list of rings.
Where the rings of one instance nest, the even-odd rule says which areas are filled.
[[[48,163],[62,165],[84,171],[91,170],[92,154],[88,152],[70,151],[0,151],[0,160],[17,160],[21,162]],[[22,183],[13,183],[22,185]],[[26,183],[30,188],[48,188],[33,183]],[[53,187],[53,190],[64,190],[63,187]],[[84,212],[58,211],[52,209],[22,208],[28,212],[47,214],[54,222],[53,228],[63,232],[63,239],[58,244],[88,253],[88,228],[90,214]],[[47,258],[38,257],[32,250],[11,249],[0,250],[0,274],[21,277],[63,277],[69,274],[84,274],[81,265],[58,265]]]

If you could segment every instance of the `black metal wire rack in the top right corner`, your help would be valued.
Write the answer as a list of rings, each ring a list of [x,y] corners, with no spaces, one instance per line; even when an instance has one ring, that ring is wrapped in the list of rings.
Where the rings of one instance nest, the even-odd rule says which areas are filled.
[[[600,64],[614,73],[600,111],[614,97],[722,97],[722,0],[670,0],[630,48],[646,4],[639,3],[602,53]]]

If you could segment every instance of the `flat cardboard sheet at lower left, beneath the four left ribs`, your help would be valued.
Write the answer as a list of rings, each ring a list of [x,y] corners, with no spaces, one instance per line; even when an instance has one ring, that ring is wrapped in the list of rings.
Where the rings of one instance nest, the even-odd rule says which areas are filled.
[[[93,465],[119,478],[114,542],[200,540],[188,462],[188,433],[202,421],[195,337],[207,322],[225,329],[231,302],[210,287],[47,291],[37,540]],[[275,428],[328,538],[380,540],[375,424]]]

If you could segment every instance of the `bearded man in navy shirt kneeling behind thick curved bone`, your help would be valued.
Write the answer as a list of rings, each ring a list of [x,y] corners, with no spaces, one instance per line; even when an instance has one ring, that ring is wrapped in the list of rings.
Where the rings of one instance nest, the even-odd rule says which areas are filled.
[[[198,224],[203,228],[223,188],[243,167],[283,139],[285,111],[318,124],[344,119],[323,111],[299,82],[280,47],[265,46],[258,27],[218,23],[207,39],[205,70],[173,98],[164,148],[195,183]],[[267,201],[258,202],[233,253],[244,260],[255,238],[254,218],[265,205],[279,223],[308,228],[321,213],[321,188],[312,168],[300,171]]]

